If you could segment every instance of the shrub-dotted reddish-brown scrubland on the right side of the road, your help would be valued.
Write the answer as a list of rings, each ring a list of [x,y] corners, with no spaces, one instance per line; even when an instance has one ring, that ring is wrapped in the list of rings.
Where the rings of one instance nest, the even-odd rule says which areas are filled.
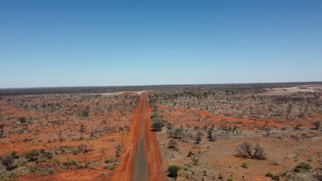
[[[178,166],[169,180],[321,180],[321,95],[320,85],[154,91],[165,169]]]

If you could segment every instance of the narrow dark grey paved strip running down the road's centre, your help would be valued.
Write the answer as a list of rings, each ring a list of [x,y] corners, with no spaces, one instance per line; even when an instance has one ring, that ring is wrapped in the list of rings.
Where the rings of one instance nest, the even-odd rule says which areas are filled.
[[[134,181],[148,181],[148,161],[147,161],[147,150],[145,145],[145,105],[147,100],[144,99],[143,111],[142,111],[142,120],[141,120],[141,133],[140,140],[138,143],[138,152],[136,152],[136,162],[134,167]]]

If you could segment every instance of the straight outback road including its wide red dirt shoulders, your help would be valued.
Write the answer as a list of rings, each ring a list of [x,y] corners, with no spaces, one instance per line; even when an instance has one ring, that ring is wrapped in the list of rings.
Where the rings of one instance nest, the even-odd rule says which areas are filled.
[[[165,180],[159,142],[155,132],[151,132],[148,97],[148,93],[140,97],[140,106],[124,142],[125,151],[112,180]]]

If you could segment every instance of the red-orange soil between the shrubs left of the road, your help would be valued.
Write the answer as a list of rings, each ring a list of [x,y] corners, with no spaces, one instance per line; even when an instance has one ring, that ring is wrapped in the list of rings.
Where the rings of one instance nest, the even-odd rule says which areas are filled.
[[[0,101],[0,124],[4,125],[5,137],[0,139],[0,155],[8,156],[13,151],[23,157],[32,149],[37,151],[44,149],[45,152],[53,153],[52,159],[39,156],[39,160],[45,162],[26,162],[21,169],[14,169],[18,172],[19,180],[111,180],[114,171],[107,169],[118,160],[116,157],[116,147],[122,143],[129,132],[125,126],[131,125],[134,110],[138,106],[138,97],[133,96],[100,96],[95,95],[35,95],[34,99],[28,96],[10,97],[12,101]],[[70,99],[70,101],[67,101]],[[25,106],[20,106],[19,101],[25,101]],[[45,108],[40,106],[31,108],[32,105],[45,104]],[[50,109],[47,104],[59,103],[60,108]],[[76,106],[74,106],[76,105]],[[125,106],[127,105],[127,106]],[[131,105],[131,106],[129,106]],[[83,119],[77,116],[81,108],[89,108],[90,117]],[[28,127],[19,123],[17,117],[25,117]],[[103,123],[103,120],[106,122]],[[59,121],[59,125],[54,123]],[[85,123],[83,141],[78,140],[79,123]],[[24,127],[28,131],[17,133]],[[118,130],[118,128],[124,128]],[[109,128],[112,131],[104,131]],[[93,138],[89,138],[90,132],[94,133]],[[57,131],[62,130],[64,141],[57,141]],[[25,138],[30,140],[24,141]],[[56,139],[56,141],[54,141]],[[90,147],[89,152],[72,154],[79,145]],[[60,150],[64,150],[61,152]],[[54,151],[57,151],[54,154]],[[58,160],[59,163],[53,163]],[[78,165],[88,165],[88,169],[79,169],[76,165],[63,167],[62,163],[74,160]],[[107,164],[105,160],[113,160]],[[87,164],[88,163],[88,164]],[[20,167],[20,166],[19,166]],[[28,169],[37,168],[36,173],[30,173]],[[42,175],[46,170],[53,173]],[[1,174],[0,174],[1,175]],[[3,176],[3,175],[1,175]],[[10,175],[7,176],[10,178]],[[13,178],[12,178],[13,179]],[[2,178],[0,180],[3,180]]]

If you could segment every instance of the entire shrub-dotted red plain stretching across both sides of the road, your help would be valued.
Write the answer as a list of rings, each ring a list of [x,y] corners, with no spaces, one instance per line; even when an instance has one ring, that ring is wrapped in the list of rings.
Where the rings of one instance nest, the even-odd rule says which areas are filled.
[[[322,180],[319,82],[116,90],[1,90],[0,180]]]

